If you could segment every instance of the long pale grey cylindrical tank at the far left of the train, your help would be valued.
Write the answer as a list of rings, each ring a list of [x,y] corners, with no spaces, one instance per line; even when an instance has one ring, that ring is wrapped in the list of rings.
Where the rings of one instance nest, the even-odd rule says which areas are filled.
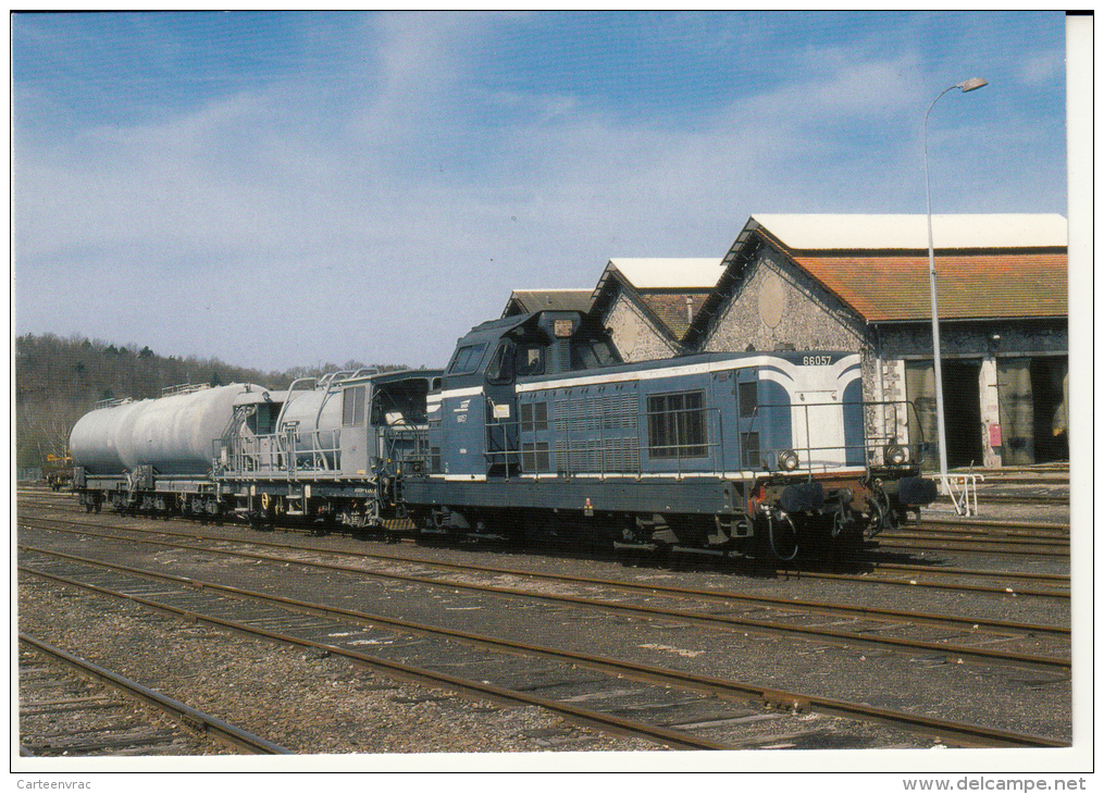
[[[88,474],[121,474],[152,465],[161,475],[202,476],[213,443],[234,415],[234,399],[263,387],[234,383],[124,403],[85,414],[70,435],[73,465]]]

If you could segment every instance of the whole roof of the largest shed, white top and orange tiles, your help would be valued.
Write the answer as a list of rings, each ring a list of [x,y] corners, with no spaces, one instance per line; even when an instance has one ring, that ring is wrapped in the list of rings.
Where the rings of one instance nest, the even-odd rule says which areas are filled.
[[[1064,317],[1066,221],[1057,214],[934,215],[940,317]],[[931,319],[926,215],[755,214],[682,341],[694,346],[769,245],[868,322]]]

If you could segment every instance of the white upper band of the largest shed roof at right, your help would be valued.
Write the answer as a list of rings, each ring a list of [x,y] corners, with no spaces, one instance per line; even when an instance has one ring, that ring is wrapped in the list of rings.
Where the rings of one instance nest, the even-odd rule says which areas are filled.
[[[753,214],[752,221],[795,251],[927,247],[923,214]],[[937,248],[1064,247],[1068,222],[1057,213],[933,215],[932,237]]]

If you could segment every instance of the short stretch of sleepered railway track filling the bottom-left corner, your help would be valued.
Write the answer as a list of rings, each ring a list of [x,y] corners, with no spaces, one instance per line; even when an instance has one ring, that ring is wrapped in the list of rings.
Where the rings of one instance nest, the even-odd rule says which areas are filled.
[[[19,643],[20,755],[193,755],[212,741],[247,753],[290,752],[40,638],[21,632]]]

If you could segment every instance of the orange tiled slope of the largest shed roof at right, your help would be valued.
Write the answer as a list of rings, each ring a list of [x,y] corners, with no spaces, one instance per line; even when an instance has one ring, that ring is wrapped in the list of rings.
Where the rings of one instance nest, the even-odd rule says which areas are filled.
[[[927,255],[794,255],[805,271],[868,322],[932,316]],[[1062,317],[1068,308],[1065,253],[935,256],[940,317]]]

